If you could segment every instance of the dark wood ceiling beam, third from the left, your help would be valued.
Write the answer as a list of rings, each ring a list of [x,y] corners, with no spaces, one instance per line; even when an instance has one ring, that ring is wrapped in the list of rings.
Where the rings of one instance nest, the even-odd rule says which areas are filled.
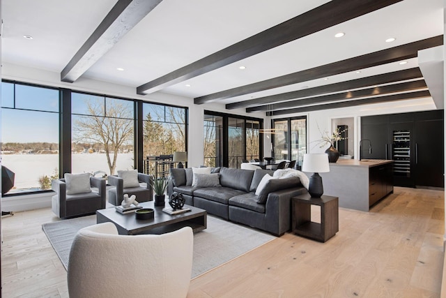
[[[342,61],[325,64],[315,68],[298,71],[297,73],[290,73],[280,77],[274,77],[269,80],[248,84],[233,89],[220,91],[214,94],[194,98],[194,103],[203,104],[218,99],[231,98],[254,92],[284,87],[291,84],[297,84],[309,80],[319,79],[321,77],[328,77],[330,75],[339,75],[341,73],[348,73],[349,71],[358,70],[362,68],[369,68],[373,66],[388,64],[394,61],[403,59],[410,59],[417,57],[419,50],[424,50],[429,47],[436,47],[443,45],[443,35],[427,38],[424,40],[415,41],[406,45],[398,47],[391,47],[390,49],[380,50],[370,54],[345,59]]]

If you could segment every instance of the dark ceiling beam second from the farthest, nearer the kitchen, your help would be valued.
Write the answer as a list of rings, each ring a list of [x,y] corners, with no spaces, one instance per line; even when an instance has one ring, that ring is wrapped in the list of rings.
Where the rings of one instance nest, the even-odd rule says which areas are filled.
[[[261,105],[259,107],[248,107],[246,112],[256,111],[274,111],[286,109],[288,107],[300,107],[302,105],[314,105],[315,103],[329,103],[330,101],[351,100],[355,98],[362,98],[367,96],[382,96],[384,94],[392,94],[404,91],[414,91],[418,89],[426,89],[426,82],[424,80],[417,80],[412,82],[403,82],[399,84],[390,84],[380,87],[372,87],[367,89],[360,89],[354,91],[346,91],[338,94],[329,94],[325,96],[316,96],[309,98],[302,98],[298,100],[284,101],[283,103],[273,103],[271,105]]]

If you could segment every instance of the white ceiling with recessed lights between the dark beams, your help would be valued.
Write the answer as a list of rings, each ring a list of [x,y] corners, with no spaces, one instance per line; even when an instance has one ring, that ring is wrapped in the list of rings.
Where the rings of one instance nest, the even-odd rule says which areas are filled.
[[[82,75],[135,88],[326,0],[163,0]],[[60,73],[115,0],[3,0],[2,59]],[[443,34],[443,0],[405,0],[162,89],[205,96]],[[344,32],[342,38],[334,38]],[[23,36],[33,36],[32,40]],[[386,38],[397,38],[385,43]],[[398,62],[220,100],[233,103],[418,66]],[[240,70],[239,66],[246,66]],[[124,71],[116,70],[124,68]],[[186,87],[190,84],[191,87]]]

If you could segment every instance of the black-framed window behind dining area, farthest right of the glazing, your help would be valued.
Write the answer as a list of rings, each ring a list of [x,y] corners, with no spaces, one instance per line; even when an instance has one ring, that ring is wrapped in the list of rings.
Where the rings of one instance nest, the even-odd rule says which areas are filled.
[[[307,117],[294,117],[273,120],[274,158],[296,161],[301,166],[307,153]]]

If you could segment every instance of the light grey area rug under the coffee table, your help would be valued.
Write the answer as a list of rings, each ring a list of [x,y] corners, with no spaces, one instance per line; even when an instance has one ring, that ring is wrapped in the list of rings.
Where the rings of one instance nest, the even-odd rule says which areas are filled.
[[[95,223],[96,216],[91,215],[42,225],[65,269],[68,267],[70,248],[75,234],[78,230]],[[272,239],[275,237],[266,232],[208,215],[208,228],[194,234],[192,278],[252,251]]]

